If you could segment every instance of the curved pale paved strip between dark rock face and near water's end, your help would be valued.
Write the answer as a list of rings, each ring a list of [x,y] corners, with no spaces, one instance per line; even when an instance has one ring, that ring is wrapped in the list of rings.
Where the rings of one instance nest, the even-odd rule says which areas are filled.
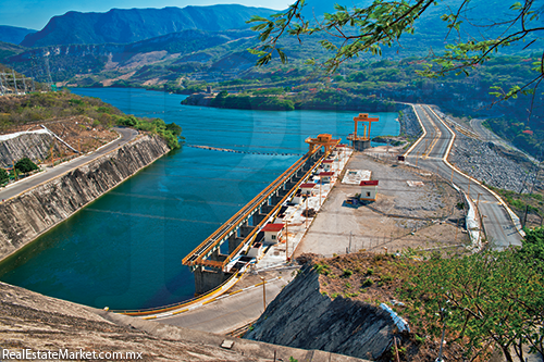
[[[267,305],[287,285],[288,279],[290,279],[288,274],[286,273],[285,278],[267,282]],[[260,285],[228,295],[193,311],[156,321],[190,329],[226,334],[257,320],[262,312],[262,285]]]

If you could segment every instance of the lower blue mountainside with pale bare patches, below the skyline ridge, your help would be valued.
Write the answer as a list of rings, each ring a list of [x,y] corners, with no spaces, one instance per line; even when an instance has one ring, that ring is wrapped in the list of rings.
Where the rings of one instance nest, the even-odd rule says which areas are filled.
[[[128,45],[61,45],[40,48],[22,48],[3,61],[28,75],[50,73],[54,82],[81,84],[82,75],[92,75],[95,80],[116,77],[140,83],[154,79],[172,80],[180,72],[200,68],[232,52],[246,52],[256,41],[256,34],[248,29],[223,32],[183,30]],[[14,46],[15,47],[15,46]],[[218,48],[219,47],[219,48]],[[0,43],[0,53],[2,47]],[[249,55],[249,53],[248,53]],[[0,59],[1,61],[1,59]],[[239,59],[234,67],[242,66]],[[252,66],[255,59],[246,61]],[[151,67],[150,67],[151,66]],[[33,70],[33,72],[30,72]],[[38,80],[42,80],[38,77]],[[109,85],[106,82],[104,85]],[[88,85],[84,80],[83,85]]]

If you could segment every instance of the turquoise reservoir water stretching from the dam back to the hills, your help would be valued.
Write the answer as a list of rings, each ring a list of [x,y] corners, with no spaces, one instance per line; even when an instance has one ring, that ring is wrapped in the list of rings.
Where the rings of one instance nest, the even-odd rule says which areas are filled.
[[[181,105],[185,96],[141,89],[74,89],[138,116],[183,127],[187,145],[159,159],[0,265],[0,279],[111,309],[158,307],[194,295],[182,259],[305,153],[308,136],[353,132],[355,112],[243,111]],[[363,110],[361,110],[362,112]],[[397,135],[376,113],[372,137]]]

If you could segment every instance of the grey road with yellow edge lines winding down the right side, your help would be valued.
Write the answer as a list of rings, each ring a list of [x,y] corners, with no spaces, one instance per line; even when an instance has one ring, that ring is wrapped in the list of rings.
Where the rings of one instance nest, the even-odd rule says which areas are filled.
[[[425,137],[410,151],[408,161],[431,172],[438,173],[442,177],[452,179],[462,191],[478,202],[482,214],[484,232],[490,242],[502,249],[509,245],[521,245],[521,236],[516,230],[506,209],[484,187],[470,180],[466,175],[454,172],[443,161],[449,152],[448,147],[453,138],[452,132],[430,110],[429,107],[416,104],[415,110],[426,130]]]

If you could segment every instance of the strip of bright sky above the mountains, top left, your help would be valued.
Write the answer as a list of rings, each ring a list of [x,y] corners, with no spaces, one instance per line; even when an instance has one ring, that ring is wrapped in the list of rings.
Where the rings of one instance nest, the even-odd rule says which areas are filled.
[[[165,8],[239,3],[247,7],[286,9],[294,0],[0,0],[0,25],[40,30],[49,20],[69,11],[107,12],[112,8]]]

